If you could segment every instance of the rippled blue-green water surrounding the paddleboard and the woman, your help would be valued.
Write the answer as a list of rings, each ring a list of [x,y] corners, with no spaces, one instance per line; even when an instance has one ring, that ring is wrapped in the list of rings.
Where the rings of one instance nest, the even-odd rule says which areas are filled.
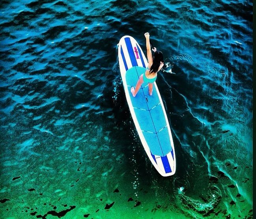
[[[252,218],[251,1],[2,1],[0,29],[1,218]],[[147,31],[168,64],[172,177],[117,61]]]

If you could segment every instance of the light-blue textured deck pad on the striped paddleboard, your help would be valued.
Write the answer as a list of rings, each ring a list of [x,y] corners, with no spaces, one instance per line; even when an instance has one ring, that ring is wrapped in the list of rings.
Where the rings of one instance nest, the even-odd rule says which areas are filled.
[[[157,92],[153,89],[153,95],[150,96],[148,87],[143,86],[135,98],[130,92],[131,86],[136,86],[139,76],[145,71],[146,69],[140,66],[130,68],[125,74],[126,83],[136,118],[152,155],[164,157],[172,151],[172,147]]]

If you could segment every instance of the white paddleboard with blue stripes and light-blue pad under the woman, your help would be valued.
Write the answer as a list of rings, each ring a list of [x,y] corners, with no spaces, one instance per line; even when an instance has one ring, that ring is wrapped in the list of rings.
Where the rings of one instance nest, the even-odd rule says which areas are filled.
[[[131,87],[146,71],[148,61],[133,37],[123,36],[118,44],[118,60],[127,103],[142,145],[157,171],[164,177],[174,175],[176,158],[172,133],[157,84],[149,95],[143,83],[136,97]]]

